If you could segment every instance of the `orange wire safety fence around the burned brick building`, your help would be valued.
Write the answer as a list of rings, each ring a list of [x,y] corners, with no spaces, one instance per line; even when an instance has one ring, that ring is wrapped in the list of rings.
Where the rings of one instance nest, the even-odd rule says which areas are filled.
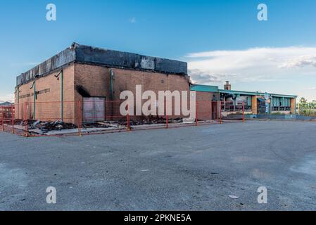
[[[147,103],[144,104],[144,103]],[[244,102],[172,103],[83,101],[19,103],[0,107],[0,130],[23,136],[88,135],[141,129],[244,122]],[[181,109],[178,109],[178,108]],[[148,109],[148,112],[144,112]]]

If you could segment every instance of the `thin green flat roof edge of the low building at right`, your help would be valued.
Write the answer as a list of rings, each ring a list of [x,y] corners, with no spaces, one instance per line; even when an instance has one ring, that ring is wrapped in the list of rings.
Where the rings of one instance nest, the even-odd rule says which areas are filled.
[[[218,86],[212,85],[203,85],[203,84],[193,84],[191,86],[191,91],[203,91],[203,92],[220,92],[226,94],[241,94],[241,95],[248,95],[248,96],[264,96],[265,93],[260,91],[235,91],[235,90],[224,90],[218,89]],[[272,94],[268,93],[272,97],[279,97],[279,98],[297,98],[298,96],[295,95],[287,95],[287,94]]]

